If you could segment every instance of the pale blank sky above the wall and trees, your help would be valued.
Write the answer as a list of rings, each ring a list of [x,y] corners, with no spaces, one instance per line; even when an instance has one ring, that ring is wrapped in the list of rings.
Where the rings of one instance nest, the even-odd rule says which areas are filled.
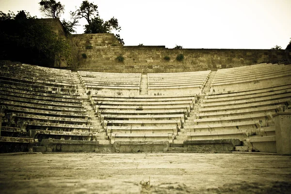
[[[82,0],[56,0],[65,15]],[[39,12],[40,0],[0,0],[0,11]],[[126,46],[185,49],[285,49],[291,38],[291,0],[89,0],[99,16],[118,19]],[[77,33],[83,33],[85,20]],[[114,32],[115,33],[115,32]]]

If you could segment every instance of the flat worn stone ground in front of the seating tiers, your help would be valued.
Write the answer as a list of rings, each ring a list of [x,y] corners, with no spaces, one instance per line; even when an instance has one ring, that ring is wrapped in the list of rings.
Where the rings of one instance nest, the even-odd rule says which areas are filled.
[[[0,154],[0,193],[291,192],[291,156],[196,153]]]

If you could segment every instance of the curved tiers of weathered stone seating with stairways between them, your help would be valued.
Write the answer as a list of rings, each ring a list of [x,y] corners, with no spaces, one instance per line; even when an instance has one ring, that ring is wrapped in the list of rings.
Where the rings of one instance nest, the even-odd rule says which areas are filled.
[[[106,73],[0,63],[1,152],[291,154],[291,65]]]

